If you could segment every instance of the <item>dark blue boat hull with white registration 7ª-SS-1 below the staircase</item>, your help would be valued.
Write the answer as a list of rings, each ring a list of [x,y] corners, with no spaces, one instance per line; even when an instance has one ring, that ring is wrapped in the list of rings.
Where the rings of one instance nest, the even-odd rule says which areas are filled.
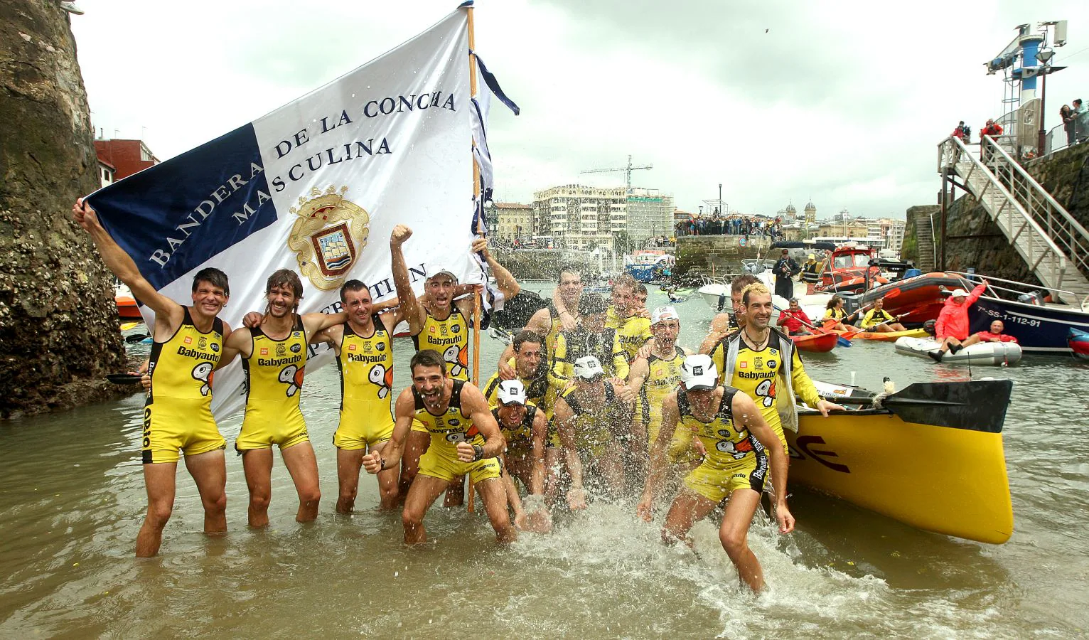
[[[1069,330],[1089,331],[1089,313],[1059,304],[1027,304],[981,297],[968,314],[970,331],[984,331],[993,321],[1005,325],[1004,333],[1017,338],[1029,353],[1070,353]]]

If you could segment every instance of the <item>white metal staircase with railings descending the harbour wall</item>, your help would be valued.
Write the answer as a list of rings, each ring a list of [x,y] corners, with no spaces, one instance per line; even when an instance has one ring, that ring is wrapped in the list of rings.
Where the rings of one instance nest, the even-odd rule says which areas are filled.
[[[1089,231],[990,136],[982,160],[950,136],[938,145],[938,172],[956,173],[1048,289],[1067,304],[1089,295]]]

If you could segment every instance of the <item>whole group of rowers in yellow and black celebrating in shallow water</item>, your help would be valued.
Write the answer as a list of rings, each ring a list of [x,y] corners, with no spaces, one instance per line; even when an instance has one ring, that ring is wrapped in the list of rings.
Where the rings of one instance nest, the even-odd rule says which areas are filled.
[[[695,352],[677,343],[674,307],[646,309],[643,285],[622,277],[607,300],[584,292],[579,269],[564,267],[553,299],[477,387],[468,362],[474,300],[490,294],[498,310],[519,289],[482,239],[472,251],[495,278],[487,293],[437,269],[417,297],[402,253],[412,230],[397,225],[390,238],[395,300],[376,303],[366,283],[347,280],[340,313],[299,314],[302,280],[280,269],[268,277],[264,312],[232,328],[218,317],[230,298],[225,274],[198,271],[192,304],[182,305],[156,291],[82,198],[73,216],[105,264],[155,313],[140,557],[159,552],[181,458],[200,494],[205,533],[227,531],[227,440],[212,416],[211,381],[235,357],[246,401],[234,447],[249,490],[250,527],[269,523],[273,445],[298,494],[296,520],[318,516],[318,463],[299,398],[308,346],[323,343],[341,381],[332,443],[337,512],[355,509],[362,471],[377,479],[379,508],[401,509],[406,544],[427,540],[428,509],[443,494],[445,505],[461,504],[466,481],[470,505],[479,494],[501,543],[519,531],[546,533],[553,516],[595,500],[631,498],[647,522],[664,509],[665,544],[692,546],[692,527],[721,517],[722,547],[757,592],[763,573],[747,534],[761,496],[781,533],[795,524],[783,431],[796,428],[795,396],[824,415],[842,409],[821,399],[793,341],[770,326],[771,292],[752,276],[735,279],[734,313],[717,316]],[[412,384],[394,394],[394,327],[402,323],[416,352],[408,371],[399,372]]]

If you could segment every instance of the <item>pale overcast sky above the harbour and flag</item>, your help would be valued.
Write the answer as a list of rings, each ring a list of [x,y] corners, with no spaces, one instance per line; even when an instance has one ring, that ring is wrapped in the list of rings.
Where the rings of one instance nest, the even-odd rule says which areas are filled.
[[[78,0],[72,16],[96,126],[166,159],[408,39],[456,1]],[[1082,10],[1078,11],[1077,8]],[[1077,1],[478,0],[476,45],[521,107],[493,108],[497,200],[633,184],[774,214],[903,217],[940,186],[937,144],[1002,112],[983,62],[1018,24],[1069,20],[1047,125],[1089,98]],[[1079,20],[1080,19],[1080,20]],[[976,135],[974,134],[974,138]]]

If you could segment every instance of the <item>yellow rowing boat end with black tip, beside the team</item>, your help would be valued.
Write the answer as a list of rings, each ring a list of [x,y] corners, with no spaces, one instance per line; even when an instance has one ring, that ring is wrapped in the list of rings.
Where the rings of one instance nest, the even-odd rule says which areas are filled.
[[[1013,383],[926,386],[935,389],[938,401],[952,406],[959,395],[963,401],[952,410],[939,407],[933,420],[925,404],[901,414],[867,409],[835,411],[827,419],[817,412],[799,415],[798,432],[786,431],[790,484],[926,531],[1006,542],[1014,520],[1002,422]],[[971,401],[984,396],[990,406]]]

